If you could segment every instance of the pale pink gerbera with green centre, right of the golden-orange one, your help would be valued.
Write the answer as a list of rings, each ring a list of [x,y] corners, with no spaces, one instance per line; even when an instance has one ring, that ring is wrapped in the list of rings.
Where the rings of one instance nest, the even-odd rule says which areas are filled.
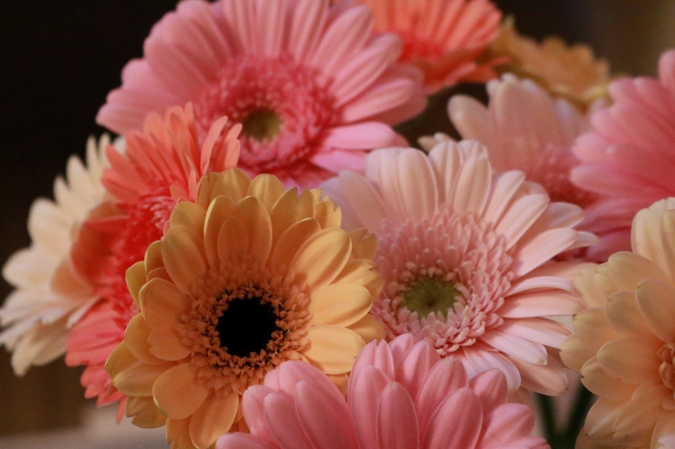
[[[509,390],[566,389],[556,349],[569,334],[548,316],[575,313],[581,262],[556,262],[588,244],[578,206],[550,202],[520,171],[493,173],[478,142],[441,142],[429,156],[376,150],[366,175],[343,172],[325,193],[348,227],[377,236],[385,279],[371,313],[387,338],[410,333],[456,356],[470,376],[498,367]]]

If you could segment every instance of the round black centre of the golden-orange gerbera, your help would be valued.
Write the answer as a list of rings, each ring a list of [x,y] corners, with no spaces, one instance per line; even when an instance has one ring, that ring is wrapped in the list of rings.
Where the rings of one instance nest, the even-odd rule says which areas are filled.
[[[267,349],[273,332],[280,330],[274,307],[258,296],[230,301],[215,329],[221,347],[238,357]]]

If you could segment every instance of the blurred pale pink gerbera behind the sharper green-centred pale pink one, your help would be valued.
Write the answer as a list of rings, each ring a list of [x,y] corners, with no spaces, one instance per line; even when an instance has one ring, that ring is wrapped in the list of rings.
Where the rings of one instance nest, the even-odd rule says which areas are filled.
[[[487,93],[487,107],[464,95],[450,98],[448,115],[462,138],[485,144],[495,170],[524,172],[546,189],[552,201],[589,206],[595,193],[572,184],[570,170],[579,163],[572,153],[574,140],[591,129],[590,113],[510,73],[489,82]],[[592,109],[599,107],[601,101]],[[427,145],[429,141],[423,140]],[[578,229],[587,230],[585,223]],[[576,252],[587,260],[598,258],[593,247]]]

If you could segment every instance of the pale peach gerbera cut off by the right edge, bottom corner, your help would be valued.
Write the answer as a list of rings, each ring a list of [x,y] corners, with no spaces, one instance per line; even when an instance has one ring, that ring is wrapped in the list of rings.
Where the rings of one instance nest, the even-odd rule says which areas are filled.
[[[675,198],[638,212],[632,253],[585,268],[574,288],[587,309],[574,318],[562,359],[599,396],[578,447],[672,448]]]

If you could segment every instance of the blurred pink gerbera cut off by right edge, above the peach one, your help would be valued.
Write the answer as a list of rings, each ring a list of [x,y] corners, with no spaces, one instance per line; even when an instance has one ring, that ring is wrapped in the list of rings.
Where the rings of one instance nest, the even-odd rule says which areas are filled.
[[[601,196],[586,212],[607,255],[630,249],[638,210],[675,194],[675,51],[661,56],[659,77],[610,84],[614,104],[574,146],[572,182]]]

